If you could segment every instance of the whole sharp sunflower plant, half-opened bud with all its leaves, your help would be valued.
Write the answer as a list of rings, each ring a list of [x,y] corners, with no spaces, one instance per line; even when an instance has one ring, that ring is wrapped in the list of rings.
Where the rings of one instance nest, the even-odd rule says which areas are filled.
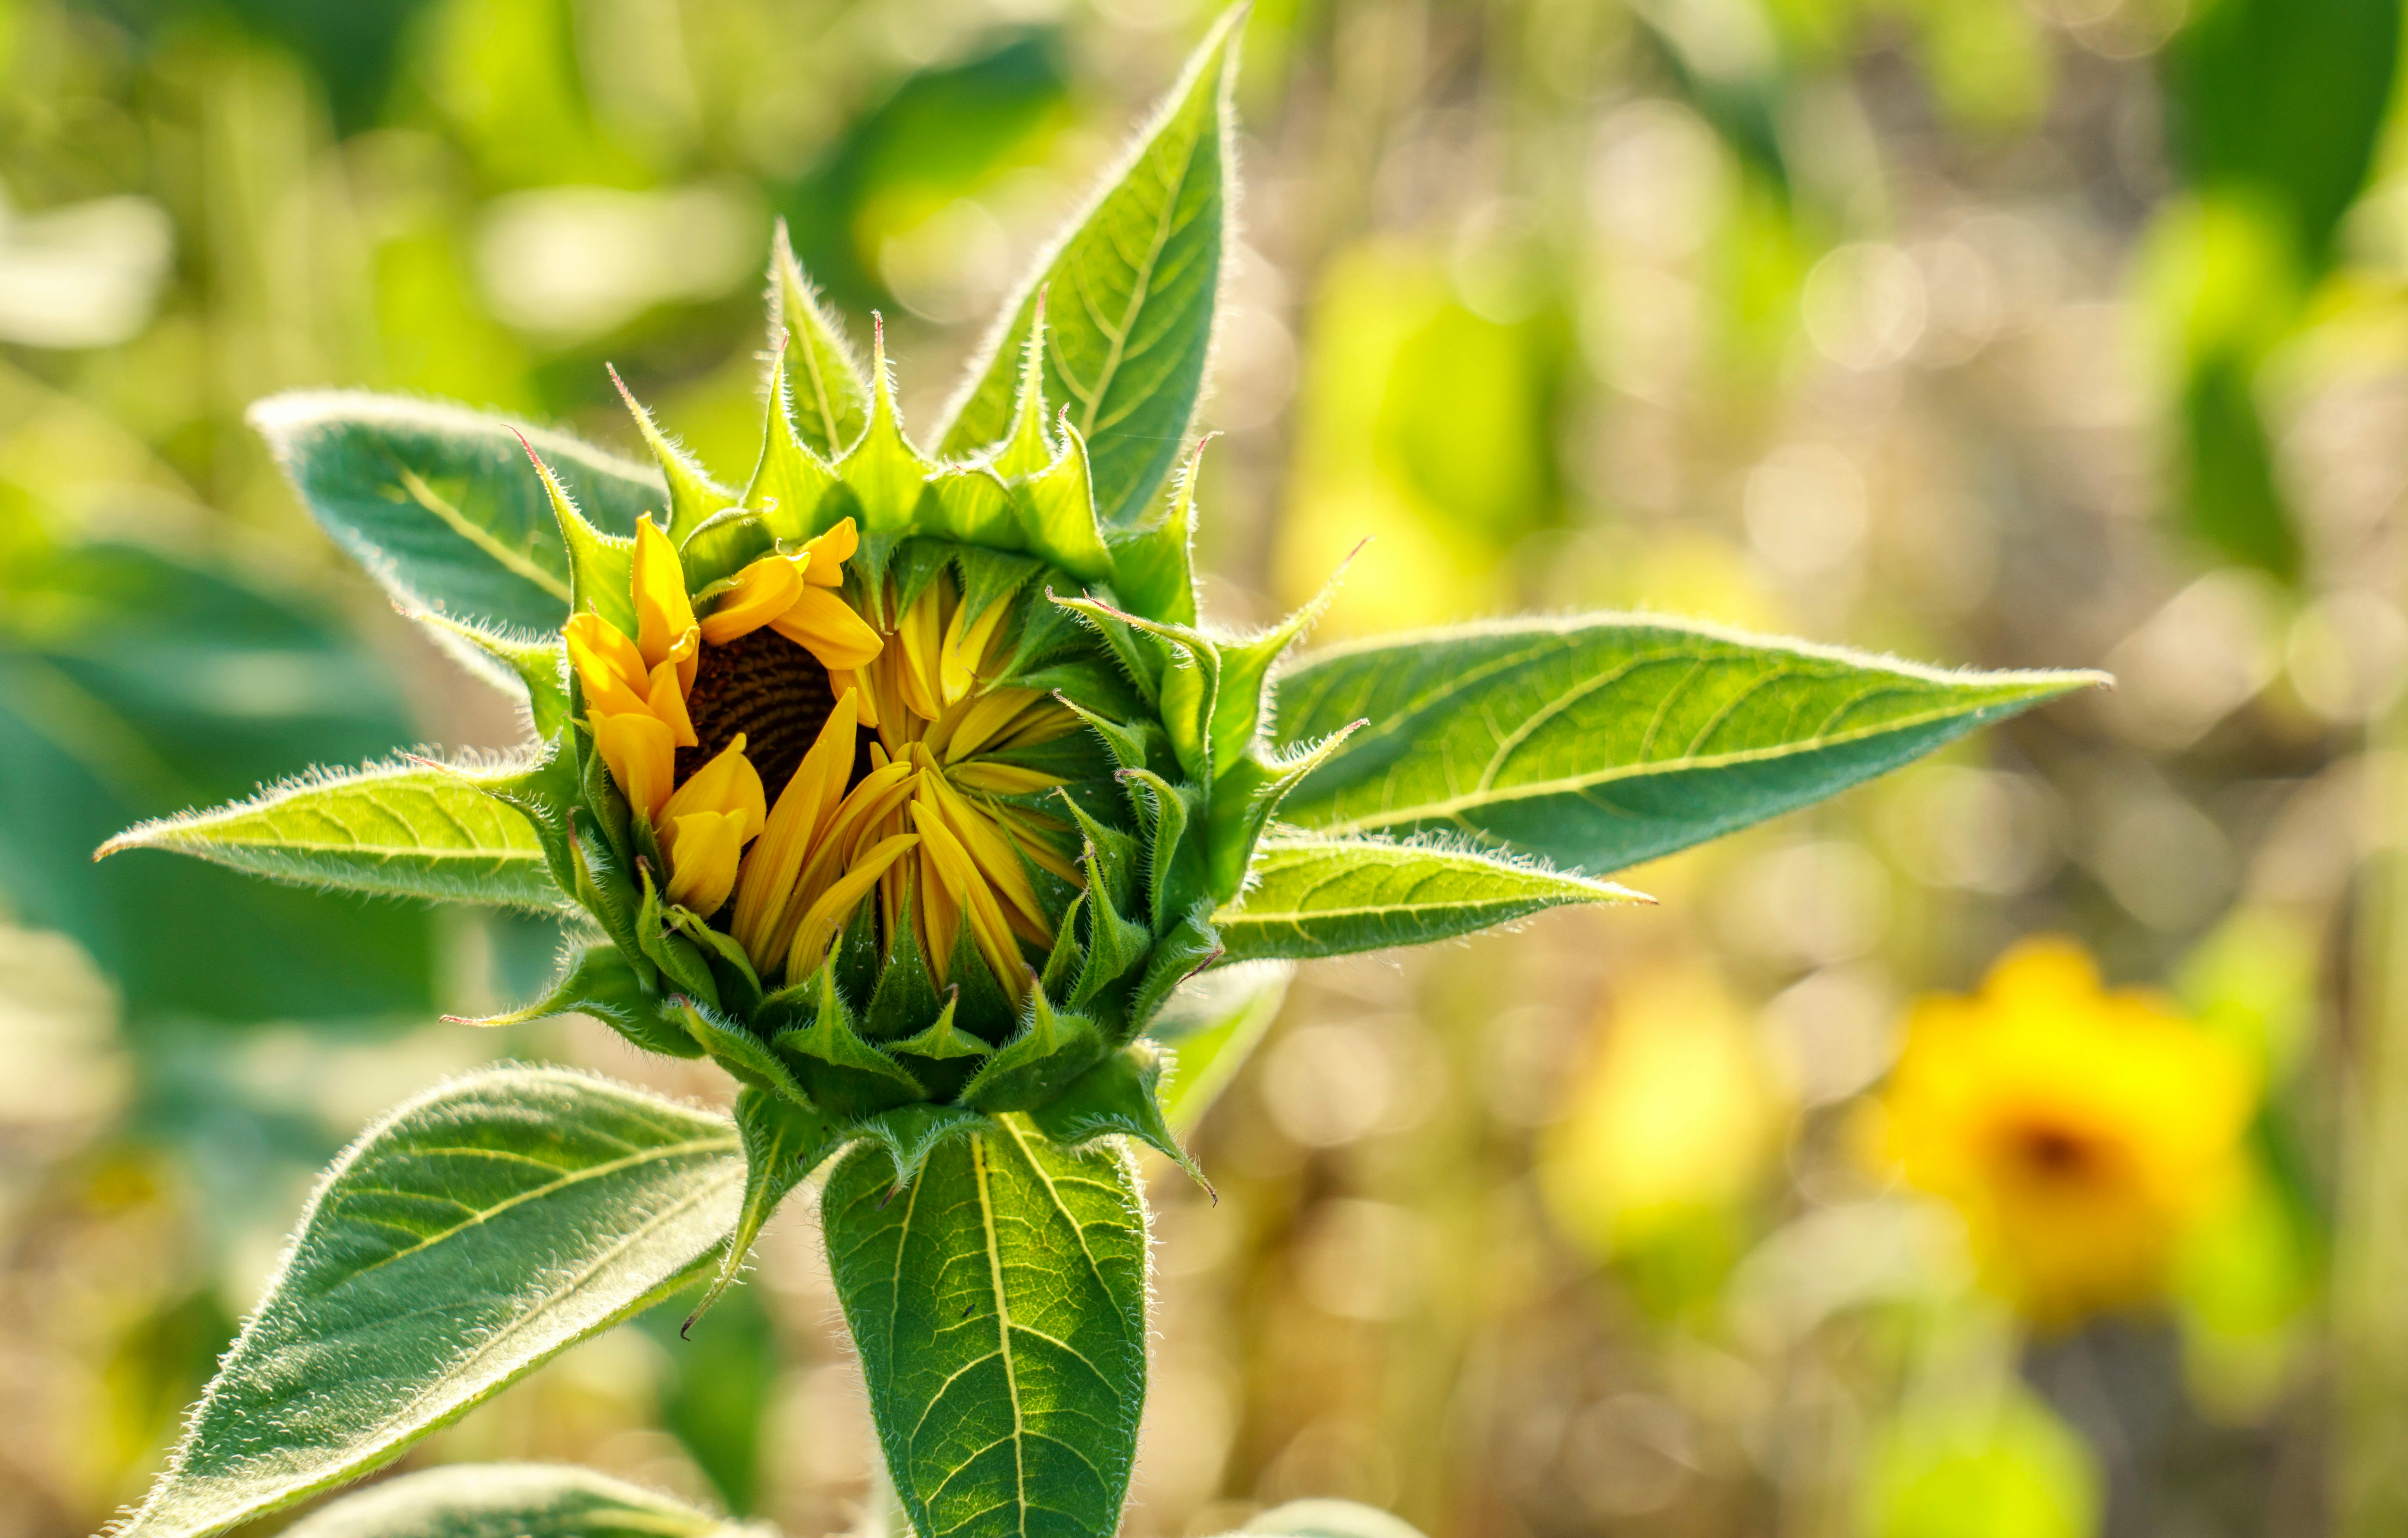
[[[720,1119],[501,1069],[371,1129],[130,1533],[272,1512],[703,1273],[715,1297],[831,1160],[828,1254],[913,1526],[1110,1533],[1146,1386],[1127,1141],[1185,1163],[1175,1129],[1259,1040],[1293,960],[1635,898],[1604,876],[2093,681],[1623,616],[1358,643],[1279,674],[1317,607],[1262,633],[1204,623],[1192,436],[1233,41],[1233,19],[1204,41],[1009,306],[934,450],[896,412],[884,344],[864,371],[783,236],[742,486],[641,407],[650,465],[424,402],[253,412],[327,532],[525,698],[532,741],[503,765],[315,770],[108,850],[559,912],[559,982],[503,1021],[583,1011],[713,1057],[742,1093]],[[730,621],[804,582],[836,628],[802,623],[804,597],[775,609],[792,628]],[[701,635],[684,650],[662,619],[679,607]],[[845,626],[889,650],[838,657]],[[886,737],[843,715],[881,698],[891,657],[925,667],[910,698],[942,693],[913,717],[925,737],[893,734],[903,696],[877,705]],[[942,712],[987,700],[1038,724],[961,746],[973,729]],[[691,737],[674,751],[672,724]],[[881,773],[922,799],[845,823],[838,797]],[[792,823],[783,859],[795,891],[831,886],[775,919],[746,883],[775,869],[795,785],[831,811]],[[313,1531],[718,1531],[556,1471],[426,1475],[378,1502]]]

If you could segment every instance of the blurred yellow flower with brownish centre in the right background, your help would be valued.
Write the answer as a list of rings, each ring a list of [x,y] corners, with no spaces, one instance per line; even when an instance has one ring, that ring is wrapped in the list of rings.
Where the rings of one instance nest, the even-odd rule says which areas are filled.
[[[1972,996],[1929,996],[1873,1126],[1876,1158],[1965,1218],[2032,1321],[2158,1297],[2242,1175],[2242,1057],[2158,994],[2100,984],[2068,939],[2011,948]]]

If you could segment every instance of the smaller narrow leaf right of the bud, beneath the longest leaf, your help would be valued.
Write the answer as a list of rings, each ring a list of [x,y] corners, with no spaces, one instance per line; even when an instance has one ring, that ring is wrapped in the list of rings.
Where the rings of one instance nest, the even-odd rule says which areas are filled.
[[[1214,915],[1230,960],[1421,946],[1570,903],[1642,903],[1628,886],[1471,850],[1310,838],[1262,845],[1255,883]]]

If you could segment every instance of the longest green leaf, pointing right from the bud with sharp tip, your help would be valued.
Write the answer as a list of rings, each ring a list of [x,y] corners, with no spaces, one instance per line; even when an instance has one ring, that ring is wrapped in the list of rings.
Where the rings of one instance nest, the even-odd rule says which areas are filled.
[[[1941,672],[1633,616],[1382,635],[1281,679],[1281,746],[1370,724],[1279,814],[1324,835],[1469,833],[1616,871],[2102,681]]]

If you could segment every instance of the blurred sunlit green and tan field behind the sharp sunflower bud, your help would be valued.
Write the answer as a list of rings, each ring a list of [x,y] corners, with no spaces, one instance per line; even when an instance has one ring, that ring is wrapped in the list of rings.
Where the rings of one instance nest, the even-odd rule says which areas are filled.
[[[925,426],[1206,22],[0,0],[0,1538],[140,1495],[393,1100],[725,1095],[433,1023],[530,996],[542,924],[89,864],[518,739],[243,407],[633,448],[614,361],[739,479],[783,217]],[[1370,534],[1324,640],[1647,607],[2121,688],[1628,874],[1657,910],[1298,972],[1194,1134],[1218,1203],[1156,1170],[1132,1536],[2408,1531],[2398,55],[2398,0],[1259,0],[1211,616]],[[660,1314],[412,1461],[852,1526],[807,1203]]]

